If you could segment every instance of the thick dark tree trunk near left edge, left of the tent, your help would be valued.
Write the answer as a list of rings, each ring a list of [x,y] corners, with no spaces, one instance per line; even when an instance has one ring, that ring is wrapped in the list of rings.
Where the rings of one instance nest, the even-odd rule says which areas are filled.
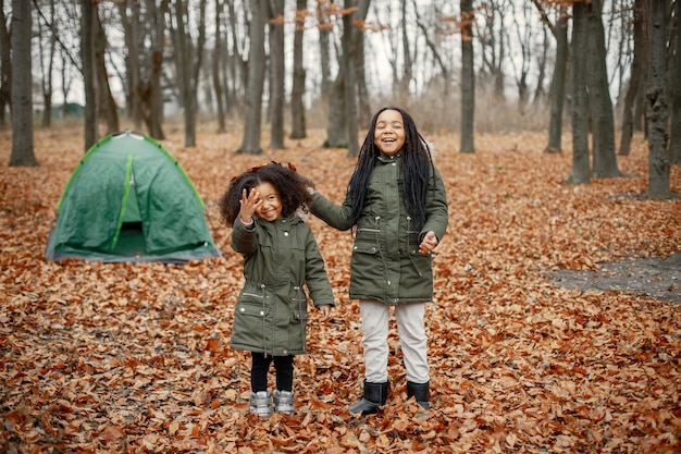
[[[12,165],[37,165],[33,149],[30,2],[12,0]]]

